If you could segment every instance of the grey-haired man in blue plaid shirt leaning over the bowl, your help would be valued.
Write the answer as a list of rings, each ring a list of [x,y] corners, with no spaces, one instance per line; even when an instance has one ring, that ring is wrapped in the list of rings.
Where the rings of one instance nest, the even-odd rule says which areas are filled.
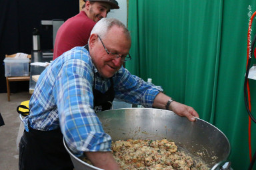
[[[95,114],[109,109],[114,97],[173,110],[191,121],[199,117],[193,108],[163,94],[159,86],[123,68],[123,62],[131,59],[131,37],[117,19],[101,19],[88,44],[59,56],[39,77],[20,143],[25,169],[71,169],[63,136],[78,157],[85,154],[96,167],[119,169],[111,154],[111,137]]]

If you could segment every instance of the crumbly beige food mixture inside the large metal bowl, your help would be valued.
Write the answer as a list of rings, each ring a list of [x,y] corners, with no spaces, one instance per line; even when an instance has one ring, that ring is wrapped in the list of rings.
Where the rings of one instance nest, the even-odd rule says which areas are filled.
[[[167,139],[119,140],[112,143],[112,151],[123,170],[209,169],[202,161],[196,161],[190,155],[179,151],[177,145]]]

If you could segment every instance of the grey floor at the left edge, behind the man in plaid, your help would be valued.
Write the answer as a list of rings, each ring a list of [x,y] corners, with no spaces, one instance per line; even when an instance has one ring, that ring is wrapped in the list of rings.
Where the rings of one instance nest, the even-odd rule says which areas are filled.
[[[17,135],[21,120],[16,108],[30,98],[29,92],[11,94],[11,101],[7,101],[7,94],[0,93],[0,113],[5,122],[0,126],[0,170],[18,170],[19,151],[17,151]]]

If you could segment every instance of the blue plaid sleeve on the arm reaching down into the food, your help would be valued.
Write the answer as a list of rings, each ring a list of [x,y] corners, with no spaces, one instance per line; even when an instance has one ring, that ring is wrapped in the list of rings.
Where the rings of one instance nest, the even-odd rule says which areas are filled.
[[[70,59],[60,71],[55,82],[55,98],[59,125],[69,149],[77,156],[83,151],[111,151],[111,137],[93,110],[91,66],[86,60]]]

